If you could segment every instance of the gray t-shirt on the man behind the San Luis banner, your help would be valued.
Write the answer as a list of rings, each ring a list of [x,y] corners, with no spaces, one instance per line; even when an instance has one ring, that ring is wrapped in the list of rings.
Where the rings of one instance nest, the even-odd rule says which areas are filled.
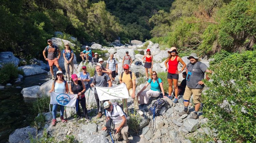
[[[93,76],[93,83],[96,83],[95,86],[97,87],[108,87],[107,83],[109,80],[110,80],[109,75],[106,73],[102,73],[101,76],[98,76],[98,74]],[[94,93],[97,93],[96,89],[94,90]]]

